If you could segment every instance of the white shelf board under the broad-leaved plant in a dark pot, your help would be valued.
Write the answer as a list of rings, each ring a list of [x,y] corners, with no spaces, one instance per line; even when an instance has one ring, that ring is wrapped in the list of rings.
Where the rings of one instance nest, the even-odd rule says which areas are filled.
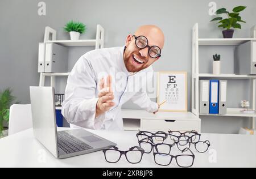
[[[199,39],[199,45],[241,45],[247,41],[256,40],[253,38],[243,39]]]

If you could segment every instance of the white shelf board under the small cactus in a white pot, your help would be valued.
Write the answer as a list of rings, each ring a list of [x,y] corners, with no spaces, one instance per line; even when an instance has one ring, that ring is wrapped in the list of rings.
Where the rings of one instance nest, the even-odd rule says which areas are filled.
[[[236,75],[236,74],[199,74],[200,78],[222,78],[222,79],[256,79],[256,75]]]

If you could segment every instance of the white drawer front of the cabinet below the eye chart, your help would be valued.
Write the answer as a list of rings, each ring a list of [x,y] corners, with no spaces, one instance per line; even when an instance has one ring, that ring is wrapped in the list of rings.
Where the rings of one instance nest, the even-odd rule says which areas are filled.
[[[146,131],[201,131],[201,121],[199,120],[141,120],[141,130]]]

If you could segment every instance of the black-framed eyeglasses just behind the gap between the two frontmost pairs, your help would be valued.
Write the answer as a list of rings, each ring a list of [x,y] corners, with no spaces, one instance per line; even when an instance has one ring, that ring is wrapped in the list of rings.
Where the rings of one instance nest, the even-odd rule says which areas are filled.
[[[155,148],[155,150],[159,153],[163,154],[170,154],[172,147],[174,147],[175,144],[167,144],[167,143],[158,143],[154,144],[151,142],[151,138],[146,138],[139,140],[139,146],[143,148],[146,154],[150,154]]]

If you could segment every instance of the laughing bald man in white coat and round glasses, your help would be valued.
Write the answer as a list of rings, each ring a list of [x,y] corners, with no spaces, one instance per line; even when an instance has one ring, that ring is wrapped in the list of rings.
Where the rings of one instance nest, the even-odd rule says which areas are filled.
[[[127,36],[125,46],[80,57],[68,77],[61,111],[71,127],[123,130],[121,107],[128,100],[156,113],[159,105],[146,89],[154,76],[151,65],[161,57],[163,46],[162,30],[143,25]]]

